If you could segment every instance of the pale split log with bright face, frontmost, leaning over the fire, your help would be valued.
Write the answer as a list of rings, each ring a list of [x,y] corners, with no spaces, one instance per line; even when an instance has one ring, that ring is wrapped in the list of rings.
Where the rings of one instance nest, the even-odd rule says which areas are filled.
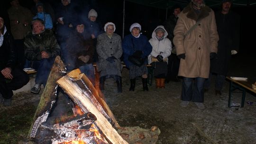
[[[68,75],[65,75],[59,79],[57,83],[81,109],[87,109],[97,117],[94,124],[98,126],[101,132],[112,144],[128,144],[111,126],[109,121],[101,114],[98,108],[94,106],[91,100],[87,98],[75,81],[72,81]]]

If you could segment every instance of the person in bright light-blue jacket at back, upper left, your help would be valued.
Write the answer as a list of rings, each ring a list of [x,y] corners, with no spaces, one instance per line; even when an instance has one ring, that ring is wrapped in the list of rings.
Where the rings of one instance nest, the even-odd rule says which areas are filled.
[[[36,5],[37,8],[37,14],[33,19],[40,18],[44,21],[46,29],[52,29],[53,28],[53,21],[49,14],[45,13],[44,10],[44,4],[41,2],[38,2]]]

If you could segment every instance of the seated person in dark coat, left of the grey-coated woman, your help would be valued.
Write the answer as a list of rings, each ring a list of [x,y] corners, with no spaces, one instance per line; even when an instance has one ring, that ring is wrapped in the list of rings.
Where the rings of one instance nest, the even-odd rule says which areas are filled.
[[[66,43],[68,59],[65,62],[68,72],[79,68],[94,85],[95,76],[92,57],[95,47],[90,37],[85,32],[84,25],[78,22],[76,29],[70,34]]]

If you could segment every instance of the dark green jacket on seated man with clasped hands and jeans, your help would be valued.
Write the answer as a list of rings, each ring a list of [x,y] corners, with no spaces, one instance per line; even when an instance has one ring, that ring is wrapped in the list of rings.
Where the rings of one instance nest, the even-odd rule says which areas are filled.
[[[42,60],[41,52],[46,51],[50,58],[60,55],[60,46],[52,30],[46,29],[43,33],[34,35],[29,32],[24,41],[25,56],[30,61]]]

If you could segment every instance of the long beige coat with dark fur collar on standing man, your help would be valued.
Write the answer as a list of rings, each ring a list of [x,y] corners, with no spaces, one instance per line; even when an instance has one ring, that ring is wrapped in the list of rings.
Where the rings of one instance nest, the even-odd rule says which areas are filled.
[[[174,28],[174,45],[177,55],[185,54],[181,59],[179,76],[187,78],[208,78],[210,72],[210,53],[217,53],[218,32],[212,9],[205,6],[197,15],[189,4],[178,15],[179,19]],[[200,24],[184,38],[186,31],[197,21]]]

